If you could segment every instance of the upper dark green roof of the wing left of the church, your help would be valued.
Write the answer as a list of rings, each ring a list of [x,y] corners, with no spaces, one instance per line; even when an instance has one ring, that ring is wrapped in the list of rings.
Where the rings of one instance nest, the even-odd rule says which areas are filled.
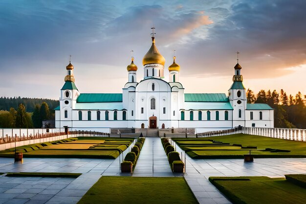
[[[122,93],[81,93],[77,103],[122,102]]]

